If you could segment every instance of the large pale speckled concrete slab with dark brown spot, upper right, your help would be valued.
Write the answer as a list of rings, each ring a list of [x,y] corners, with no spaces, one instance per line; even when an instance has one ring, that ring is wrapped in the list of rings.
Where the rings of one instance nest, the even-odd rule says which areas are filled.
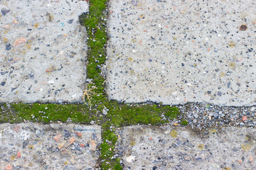
[[[253,0],[110,0],[110,99],[255,105],[255,8]]]

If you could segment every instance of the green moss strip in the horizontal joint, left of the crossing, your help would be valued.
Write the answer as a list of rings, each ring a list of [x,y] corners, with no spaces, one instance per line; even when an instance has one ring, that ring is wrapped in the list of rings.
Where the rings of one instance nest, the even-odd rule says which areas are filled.
[[[54,103],[12,103],[5,111],[1,111],[1,123],[20,123],[23,120],[41,123],[67,122],[89,124],[91,120],[99,120],[89,108],[82,104],[54,104]]]

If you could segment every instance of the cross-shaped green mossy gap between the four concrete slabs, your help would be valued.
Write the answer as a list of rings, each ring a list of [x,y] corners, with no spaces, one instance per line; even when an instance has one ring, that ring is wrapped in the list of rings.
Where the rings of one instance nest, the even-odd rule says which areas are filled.
[[[115,130],[125,125],[162,125],[179,114],[178,108],[154,103],[124,104],[108,101],[102,68],[106,60],[107,0],[90,0],[90,13],[80,16],[87,29],[87,84],[84,103],[0,103],[0,123],[39,122],[102,125],[101,169],[122,169],[115,148]],[[186,124],[186,122],[185,122]],[[97,168],[97,167],[95,167]]]

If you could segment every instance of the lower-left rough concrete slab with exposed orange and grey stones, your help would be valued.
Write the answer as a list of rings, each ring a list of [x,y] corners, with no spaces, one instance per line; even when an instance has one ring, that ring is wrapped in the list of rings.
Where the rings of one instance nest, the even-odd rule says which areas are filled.
[[[94,169],[97,125],[0,125],[0,169]]]

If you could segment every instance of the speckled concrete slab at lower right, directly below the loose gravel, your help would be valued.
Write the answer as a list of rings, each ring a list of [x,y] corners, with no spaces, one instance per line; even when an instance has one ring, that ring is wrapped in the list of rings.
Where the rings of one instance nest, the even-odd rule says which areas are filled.
[[[132,126],[123,131],[124,169],[256,169],[256,130]]]

